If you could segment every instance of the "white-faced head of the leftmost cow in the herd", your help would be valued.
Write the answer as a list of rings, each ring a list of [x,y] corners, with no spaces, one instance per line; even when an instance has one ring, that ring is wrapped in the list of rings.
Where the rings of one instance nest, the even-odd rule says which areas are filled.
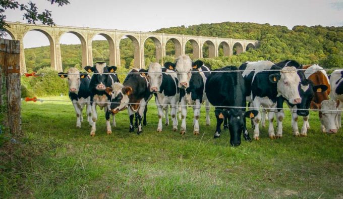
[[[69,92],[78,93],[81,85],[81,79],[88,76],[87,73],[80,73],[76,68],[70,68],[67,73],[59,73],[61,78],[68,79]]]

